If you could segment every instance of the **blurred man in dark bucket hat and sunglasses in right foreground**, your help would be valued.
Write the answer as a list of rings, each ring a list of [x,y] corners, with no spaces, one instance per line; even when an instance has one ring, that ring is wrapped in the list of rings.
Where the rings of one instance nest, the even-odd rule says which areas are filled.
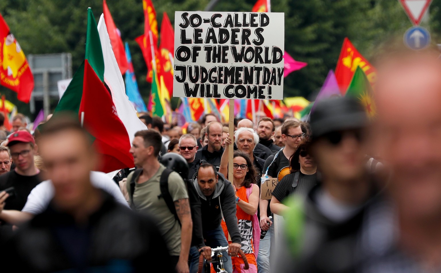
[[[309,152],[321,178],[290,198],[274,272],[352,272],[366,204],[376,188],[366,168],[366,112],[352,98],[325,99],[310,115]],[[283,263],[282,263],[283,261]],[[288,262],[286,262],[288,261]]]

